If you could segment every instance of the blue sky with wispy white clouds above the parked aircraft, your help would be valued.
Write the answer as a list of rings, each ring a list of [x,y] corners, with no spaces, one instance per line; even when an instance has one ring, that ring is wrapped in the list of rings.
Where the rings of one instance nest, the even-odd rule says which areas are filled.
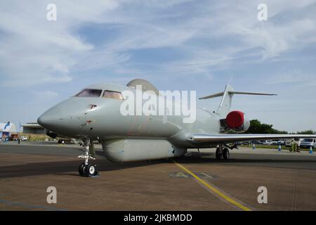
[[[46,20],[50,3],[57,21]],[[233,108],[277,129],[316,130],[315,11],[312,0],[1,1],[0,122],[34,122],[92,83],[143,78],[197,96],[228,83],[276,93],[235,96]]]

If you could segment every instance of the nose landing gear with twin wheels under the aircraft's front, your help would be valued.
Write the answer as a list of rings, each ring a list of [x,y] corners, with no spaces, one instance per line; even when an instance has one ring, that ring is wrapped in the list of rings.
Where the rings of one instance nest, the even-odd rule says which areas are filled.
[[[78,158],[84,158],[84,163],[81,163],[79,165],[79,175],[80,176],[98,176],[99,172],[96,169],[96,165],[89,164],[88,160],[93,159],[96,160],[96,158],[93,158],[91,155],[95,155],[94,153],[94,147],[92,140],[88,139],[86,141],[83,141],[82,146],[84,146],[84,155],[79,155]]]

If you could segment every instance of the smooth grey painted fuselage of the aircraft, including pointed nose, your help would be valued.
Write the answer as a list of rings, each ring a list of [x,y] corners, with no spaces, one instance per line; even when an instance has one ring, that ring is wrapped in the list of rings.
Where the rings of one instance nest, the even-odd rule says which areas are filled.
[[[119,84],[93,84],[87,89],[136,90]],[[191,148],[187,134],[218,134],[225,117],[197,108],[195,122],[183,123],[182,115],[121,115],[124,100],[73,96],[48,109],[38,122],[63,136],[76,139],[166,139],[176,146]],[[91,108],[91,105],[95,107]]]

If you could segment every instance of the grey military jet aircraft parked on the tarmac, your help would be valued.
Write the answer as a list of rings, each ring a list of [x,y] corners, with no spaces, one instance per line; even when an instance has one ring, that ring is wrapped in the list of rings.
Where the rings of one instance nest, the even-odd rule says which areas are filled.
[[[79,165],[81,176],[98,174],[93,141],[102,143],[105,158],[112,162],[154,160],[180,157],[188,148],[216,148],[216,159],[228,160],[231,145],[240,141],[316,138],[315,135],[239,134],[249,129],[244,113],[231,111],[235,94],[274,95],[239,92],[227,85],[225,91],[199,99],[222,96],[217,110],[197,108],[195,122],[183,123],[183,115],[122,115],[121,104],[126,101],[123,91],[135,93],[159,91],[144,79],[133,79],[126,86],[93,84],[78,94],[48,109],[38,123],[48,129],[50,136],[79,139],[84,146],[84,163]],[[173,99],[176,101],[176,99]],[[140,105],[141,107],[142,105]],[[234,134],[231,134],[234,133]]]

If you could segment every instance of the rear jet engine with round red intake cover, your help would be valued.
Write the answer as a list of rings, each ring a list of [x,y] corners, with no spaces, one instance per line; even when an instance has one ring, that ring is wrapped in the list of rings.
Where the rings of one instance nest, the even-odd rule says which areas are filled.
[[[246,119],[244,113],[237,110],[228,113],[225,119],[220,120],[220,128],[223,132],[235,131],[236,133],[242,133],[247,131],[249,127],[249,120]]]

